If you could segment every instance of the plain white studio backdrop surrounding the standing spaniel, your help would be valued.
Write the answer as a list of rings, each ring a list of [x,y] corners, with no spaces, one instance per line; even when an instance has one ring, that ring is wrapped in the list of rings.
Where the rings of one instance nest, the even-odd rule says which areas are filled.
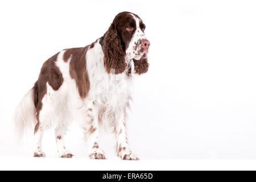
[[[143,19],[151,42],[150,69],[135,78],[129,121],[142,163],[256,159],[255,9],[254,1],[0,1],[1,158],[31,160],[32,133],[18,145],[11,118],[44,61],[94,42],[117,13],[131,11]],[[87,159],[76,126],[65,143]],[[117,159],[114,145],[112,135],[102,135],[109,159]],[[43,148],[54,161],[52,130]]]

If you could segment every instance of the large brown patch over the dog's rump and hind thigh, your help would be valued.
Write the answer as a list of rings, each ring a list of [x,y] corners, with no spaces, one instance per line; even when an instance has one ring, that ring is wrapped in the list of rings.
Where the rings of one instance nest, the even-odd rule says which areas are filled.
[[[60,69],[55,65],[58,55],[59,53],[56,53],[56,55],[49,58],[43,64],[38,81],[35,82],[35,85],[33,87],[34,105],[36,107],[36,118],[38,120],[38,123],[35,126],[35,133],[38,131],[39,128],[39,113],[42,109],[42,99],[47,92],[46,83],[48,82],[53,90],[58,90],[63,84],[63,77]]]

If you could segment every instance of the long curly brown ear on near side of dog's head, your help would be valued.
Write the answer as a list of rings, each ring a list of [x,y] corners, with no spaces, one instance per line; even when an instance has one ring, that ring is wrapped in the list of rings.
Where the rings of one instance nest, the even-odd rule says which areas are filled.
[[[117,28],[112,23],[102,40],[102,50],[104,52],[104,66],[107,73],[119,74],[125,71],[125,51],[121,45]]]

